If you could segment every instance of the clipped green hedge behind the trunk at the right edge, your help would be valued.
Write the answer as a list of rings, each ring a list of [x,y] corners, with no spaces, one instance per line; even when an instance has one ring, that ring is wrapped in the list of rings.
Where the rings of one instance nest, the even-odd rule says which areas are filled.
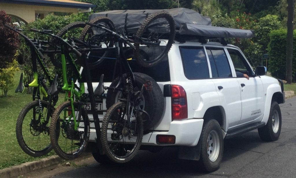
[[[287,53],[287,29],[272,30],[269,33],[268,64],[267,69],[273,77],[285,79],[286,77],[286,53]],[[296,74],[296,30],[293,32],[293,64],[292,75]]]

